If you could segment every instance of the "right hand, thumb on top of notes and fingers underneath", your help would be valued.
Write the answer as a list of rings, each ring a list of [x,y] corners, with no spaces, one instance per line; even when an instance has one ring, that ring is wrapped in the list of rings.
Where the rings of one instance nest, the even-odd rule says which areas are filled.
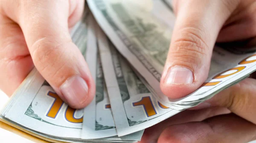
[[[207,79],[216,41],[256,43],[256,1],[174,0],[173,4],[177,21],[160,86],[169,98],[181,98]],[[161,133],[158,143],[255,140],[255,89],[256,80],[248,78],[222,91],[194,109],[227,107],[232,114],[169,126]]]

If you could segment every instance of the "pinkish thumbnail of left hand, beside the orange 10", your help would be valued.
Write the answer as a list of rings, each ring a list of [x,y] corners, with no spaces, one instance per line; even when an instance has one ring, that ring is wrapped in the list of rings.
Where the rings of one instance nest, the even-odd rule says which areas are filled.
[[[68,104],[75,106],[84,102],[88,96],[88,85],[80,76],[67,79],[60,87]]]

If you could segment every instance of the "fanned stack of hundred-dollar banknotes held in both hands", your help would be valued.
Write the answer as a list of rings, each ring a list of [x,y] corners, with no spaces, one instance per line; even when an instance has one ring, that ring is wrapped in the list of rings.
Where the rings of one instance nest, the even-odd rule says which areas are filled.
[[[256,70],[255,51],[216,46],[207,81],[186,97],[167,98],[159,85],[175,16],[170,0],[152,0],[151,9],[139,1],[87,0],[71,32],[96,83],[89,106],[68,107],[35,68],[0,112],[0,121],[54,143],[138,142],[144,129]]]

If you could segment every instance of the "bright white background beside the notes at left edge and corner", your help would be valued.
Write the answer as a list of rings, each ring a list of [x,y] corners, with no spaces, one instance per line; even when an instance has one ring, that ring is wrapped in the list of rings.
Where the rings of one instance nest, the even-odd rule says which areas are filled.
[[[8,97],[0,90],[0,110],[8,101]],[[31,140],[20,137],[12,132],[0,128],[0,143],[34,143]],[[256,143],[256,141],[250,142]]]

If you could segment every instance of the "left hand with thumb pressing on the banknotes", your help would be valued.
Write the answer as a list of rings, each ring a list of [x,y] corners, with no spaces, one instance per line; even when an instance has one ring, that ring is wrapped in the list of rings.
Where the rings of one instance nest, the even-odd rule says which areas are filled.
[[[84,0],[0,0],[0,89],[17,89],[35,66],[73,108],[95,95],[95,84],[69,30]]]

